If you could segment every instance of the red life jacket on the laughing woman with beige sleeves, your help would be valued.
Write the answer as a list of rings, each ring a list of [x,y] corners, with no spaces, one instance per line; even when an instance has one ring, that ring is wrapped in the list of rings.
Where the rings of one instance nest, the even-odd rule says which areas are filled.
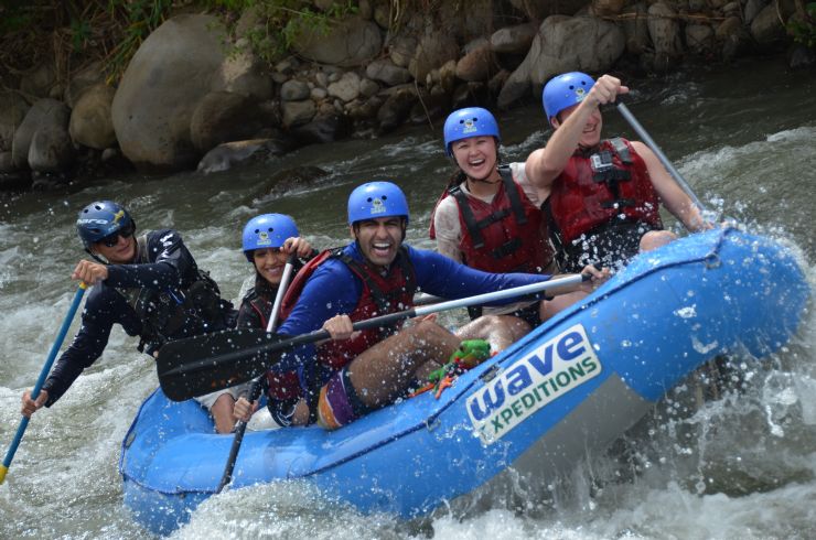
[[[541,210],[513,180],[508,166],[498,168],[498,173],[502,183],[490,203],[468,196],[459,185],[439,198],[457,199],[462,261],[486,272],[540,273],[552,260]],[[432,218],[429,236],[436,238]]]

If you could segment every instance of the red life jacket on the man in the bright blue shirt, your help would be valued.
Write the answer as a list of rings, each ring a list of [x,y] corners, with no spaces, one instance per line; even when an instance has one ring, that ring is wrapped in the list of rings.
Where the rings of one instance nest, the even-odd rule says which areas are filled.
[[[311,274],[329,258],[342,260],[363,282],[363,292],[357,305],[348,313],[352,322],[409,310],[414,305],[417,279],[404,247],[399,248],[397,258],[386,276],[380,276],[368,264],[352,259],[342,249],[335,249],[323,251],[298,272],[283,296],[281,317],[292,312]],[[318,347],[318,360],[332,369],[341,369],[364,350],[395,334],[400,327],[401,323],[395,323],[387,327],[364,330],[351,339],[329,341]]]

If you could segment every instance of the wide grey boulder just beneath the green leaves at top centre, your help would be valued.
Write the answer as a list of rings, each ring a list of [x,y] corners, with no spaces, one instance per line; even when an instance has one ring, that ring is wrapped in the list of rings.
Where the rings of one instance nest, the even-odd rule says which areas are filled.
[[[377,24],[359,17],[331,25],[328,33],[302,23],[292,42],[292,48],[304,58],[343,67],[365,64],[379,54],[382,46]]]

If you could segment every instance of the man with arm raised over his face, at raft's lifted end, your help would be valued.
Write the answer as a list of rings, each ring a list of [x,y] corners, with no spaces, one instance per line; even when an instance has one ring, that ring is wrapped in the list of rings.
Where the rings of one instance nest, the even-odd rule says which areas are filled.
[[[601,138],[599,107],[627,93],[611,75],[595,82],[579,72],[544,87],[555,133],[527,158],[526,172],[546,198],[543,209],[565,271],[588,263],[615,268],[674,239],[662,230],[661,202],[688,230],[709,227],[648,147]]]

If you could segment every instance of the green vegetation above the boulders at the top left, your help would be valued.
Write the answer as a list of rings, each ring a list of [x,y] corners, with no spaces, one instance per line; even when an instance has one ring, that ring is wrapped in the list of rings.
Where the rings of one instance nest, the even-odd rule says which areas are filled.
[[[108,83],[124,74],[142,41],[180,12],[210,12],[235,30],[251,12],[253,24],[238,41],[269,63],[284,55],[303,31],[325,33],[358,11],[357,0],[334,0],[325,9],[311,0],[2,0],[0,1],[0,82],[42,57],[53,60],[61,80],[92,60],[103,62]],[[389,0],[390,24],[414,11],[430,12],[440,0]],[[228,50],[238,52],[236,45]]]

